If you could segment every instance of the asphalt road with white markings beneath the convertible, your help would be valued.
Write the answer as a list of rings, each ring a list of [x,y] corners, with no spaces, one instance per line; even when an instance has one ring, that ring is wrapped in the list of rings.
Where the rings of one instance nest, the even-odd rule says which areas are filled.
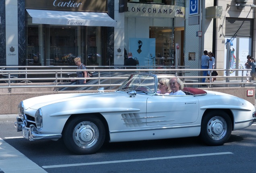
[[[256,123],[233,131],[225,145],[197,137],[105,144],[92,155],[74,155],[59,141],[28,141],[0,120],[0,173],[254,173]]]

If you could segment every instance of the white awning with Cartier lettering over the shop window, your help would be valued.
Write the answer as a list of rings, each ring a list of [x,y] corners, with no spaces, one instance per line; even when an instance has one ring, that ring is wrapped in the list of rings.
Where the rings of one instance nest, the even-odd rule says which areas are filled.
[[[116,21],[100,12],[73,12],[53,10],[31,10],[27,12],[34,24],[54,24],[72,26],[116,26]]]

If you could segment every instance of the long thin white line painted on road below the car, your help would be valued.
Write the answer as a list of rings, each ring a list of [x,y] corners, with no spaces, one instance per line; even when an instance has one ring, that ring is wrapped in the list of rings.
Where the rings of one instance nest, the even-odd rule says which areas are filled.
[[[100,164],[109,164],[109,163],[124,163],[124,162],[137,162],[137,161],[152,161],[152,160],[163,160],[163,159],[177,159],[185,157],[200,157],[200,156],[211,156],[211,155],[227,155],[233,154],[231,152],[222,152],[222,153],[207,153],[207,154],[196,154],[196,155],[181,155],[181,156],[170,156],[170,157],[153,157],[145,159],[130,159],[130,160],[119,160],[119,161],[103,161],[103,162],[91,162],[91,163],[75,163],[75,164],[65,164],[65,165],[49,165],[42,166],[46,168],[57,168],[57,167],[72,167],[72,166],[85,166],[85,165],[100,165]]]

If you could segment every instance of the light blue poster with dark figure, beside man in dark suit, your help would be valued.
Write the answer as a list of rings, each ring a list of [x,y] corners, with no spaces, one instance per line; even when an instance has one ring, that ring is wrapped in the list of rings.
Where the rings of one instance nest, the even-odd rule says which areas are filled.
[[[137,66],[155,66],[155,38],[130,38],[129,52],[138,59]]]

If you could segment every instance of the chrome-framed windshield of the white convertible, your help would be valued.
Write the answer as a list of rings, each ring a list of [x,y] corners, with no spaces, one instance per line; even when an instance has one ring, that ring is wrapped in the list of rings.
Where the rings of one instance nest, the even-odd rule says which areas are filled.
[[[155,93],[156,76],[149,74],[131,74],[130,77],[119,87],[118,91],[135,90],[138,93]]]

